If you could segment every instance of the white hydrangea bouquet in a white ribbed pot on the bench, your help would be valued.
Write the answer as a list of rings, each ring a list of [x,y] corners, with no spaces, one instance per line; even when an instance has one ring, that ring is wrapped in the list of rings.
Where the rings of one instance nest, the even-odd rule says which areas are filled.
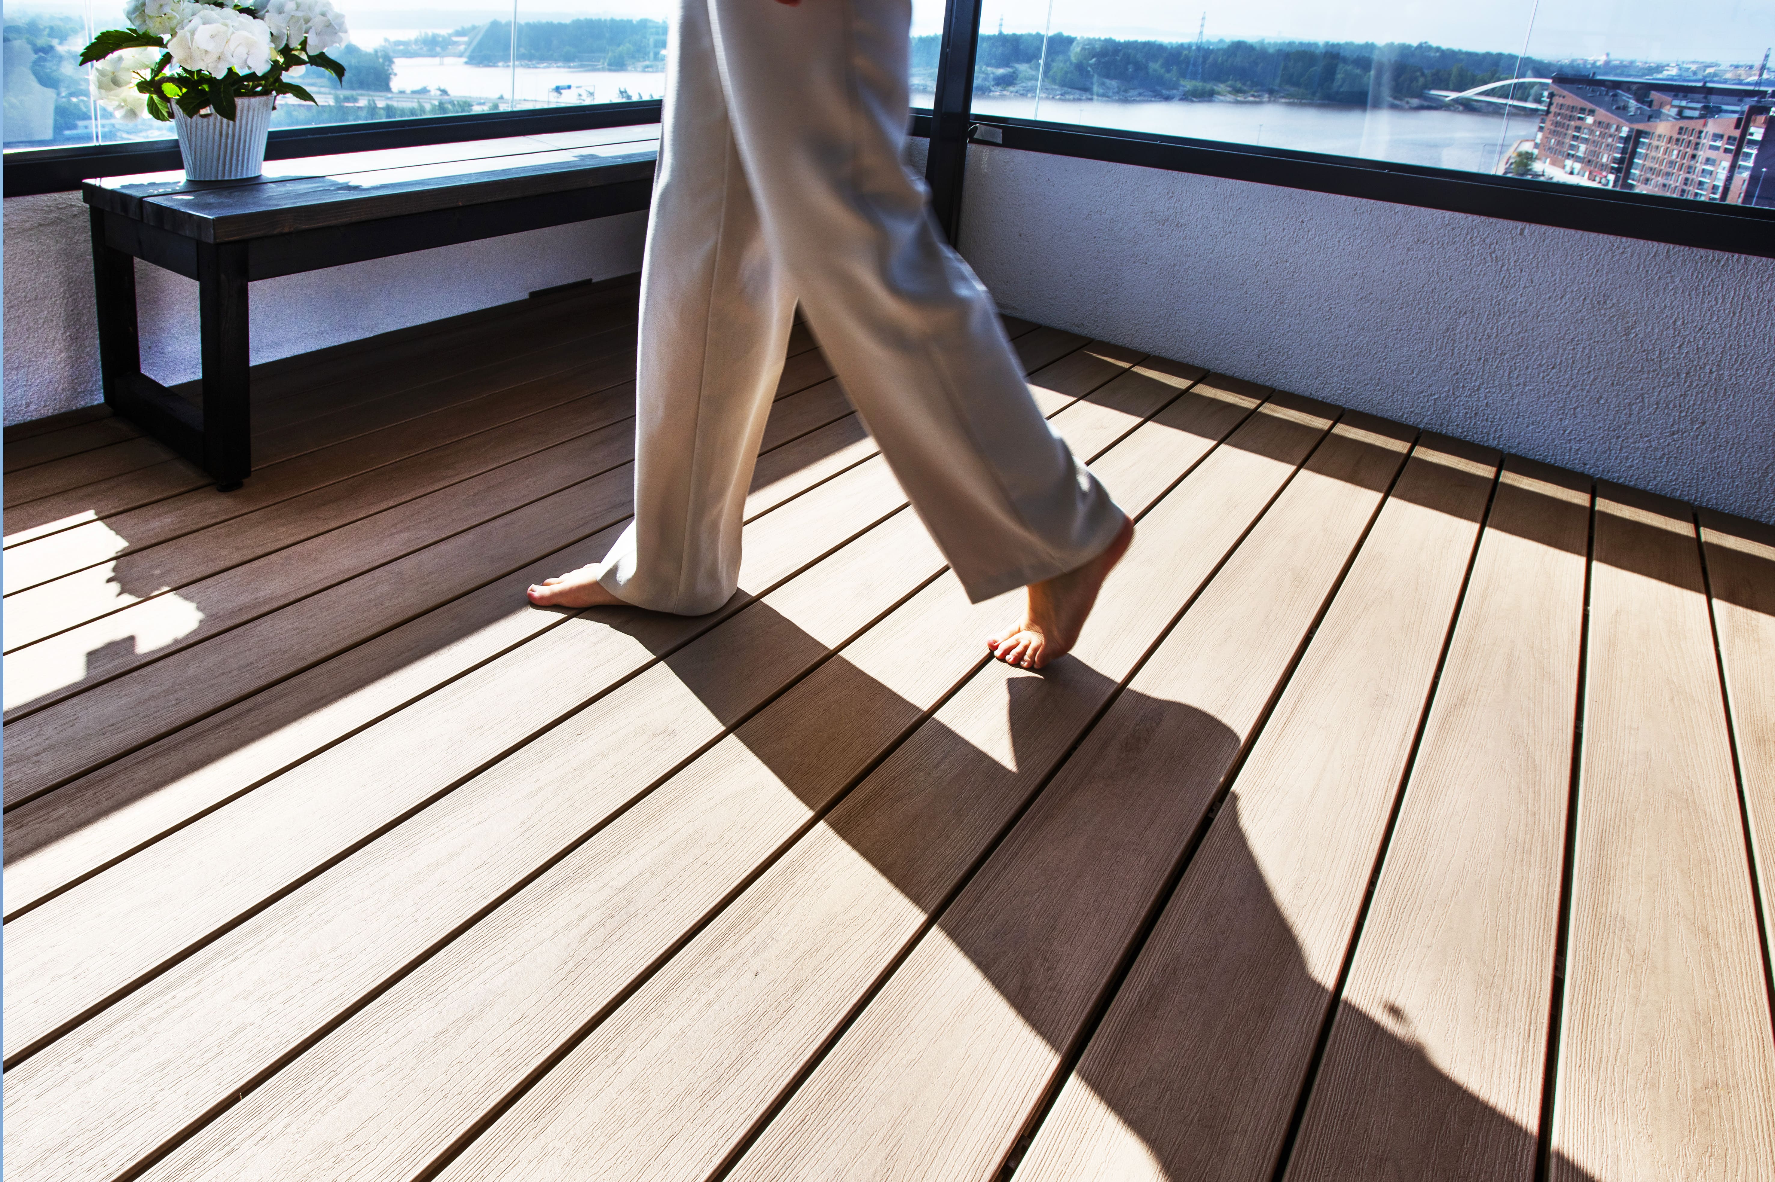
[[[344,80],[327,57],[346,39],[332,0],[130,0],[124,20],[80,64],[98,62],[92,87],[122,119],[178,126],[193,181],[259,174],[277,96],[316,101],[291,75],[318,66]]]

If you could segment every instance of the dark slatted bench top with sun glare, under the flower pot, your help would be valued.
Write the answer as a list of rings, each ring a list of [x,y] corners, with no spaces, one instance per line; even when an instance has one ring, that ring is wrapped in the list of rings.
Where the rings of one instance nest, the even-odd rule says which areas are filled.
[[[405,213],[646,179],[659,124],[266,162],[250,181],[149,172],[83,181],[87,204],[197,241],[245,241]]]

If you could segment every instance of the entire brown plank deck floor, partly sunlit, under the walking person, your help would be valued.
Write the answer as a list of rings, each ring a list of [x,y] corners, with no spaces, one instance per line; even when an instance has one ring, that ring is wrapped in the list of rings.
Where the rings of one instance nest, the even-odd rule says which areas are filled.
[[[1775,1177],[1775,531],[1010,321],[1010,671],[797,328],[733,602],[532,611],[634,311],[9,429],[9,1178]]]

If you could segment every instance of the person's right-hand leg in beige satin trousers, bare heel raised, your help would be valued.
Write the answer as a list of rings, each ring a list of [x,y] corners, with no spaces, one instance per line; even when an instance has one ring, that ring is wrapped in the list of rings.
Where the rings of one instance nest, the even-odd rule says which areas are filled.
[[[774,257],[967,595],[1037,586],[996,648],[1042,664],[1072,644],[1131,531],[1042,419],[992,298],[900,162],[909,0],[710,11]]]

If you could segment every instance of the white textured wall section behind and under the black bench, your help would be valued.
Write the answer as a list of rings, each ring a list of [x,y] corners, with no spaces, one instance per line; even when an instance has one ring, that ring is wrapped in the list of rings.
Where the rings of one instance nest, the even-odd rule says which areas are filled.
[[[252,360],[355,341],[540,288],[641,268],[644,213],[556,225],[460,247],[252,284]],[[199,376],[197,284],[137,263],[142,369]],[[5,421],[99,401],[92,248],[80,193],[5,201]]]

